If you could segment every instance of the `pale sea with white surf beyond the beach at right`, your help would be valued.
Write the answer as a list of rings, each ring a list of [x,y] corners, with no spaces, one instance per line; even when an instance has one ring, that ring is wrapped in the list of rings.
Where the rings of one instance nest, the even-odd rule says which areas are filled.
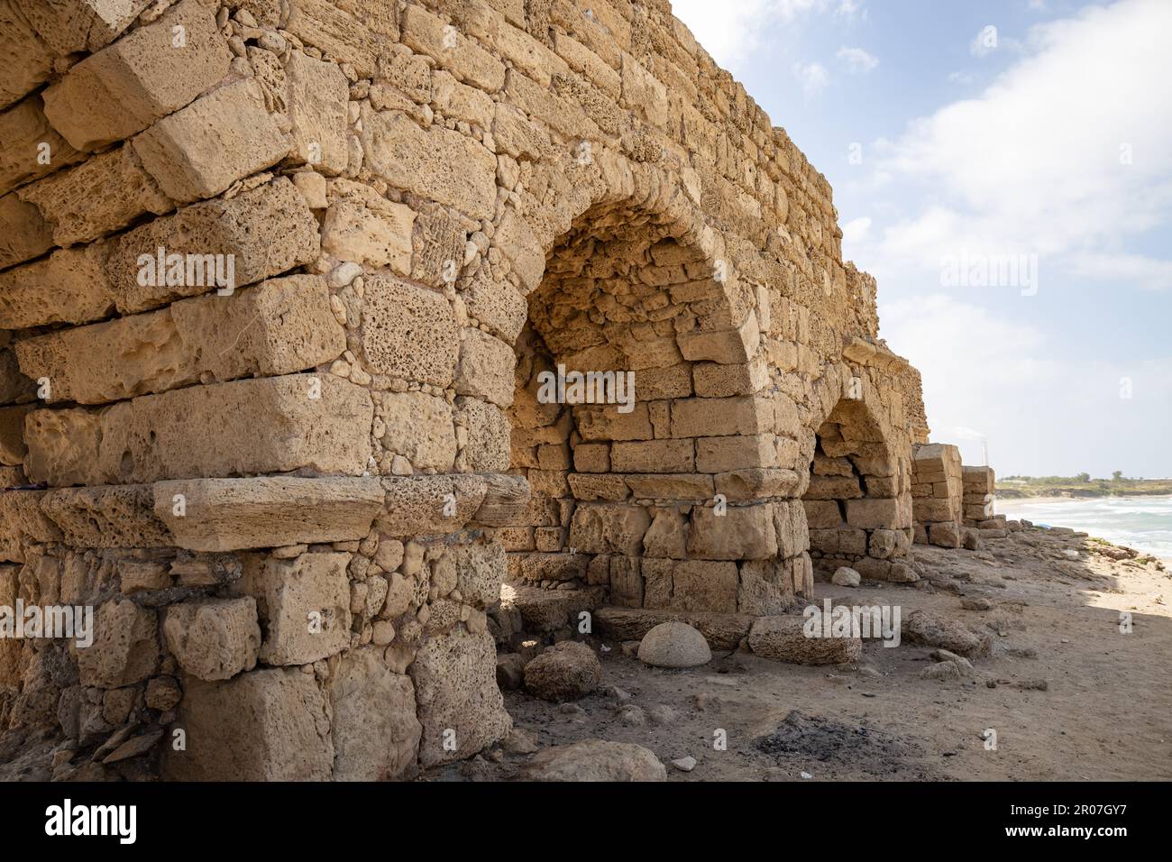
[[[1001,500],[997,514],[1070,527],[1172,561],[1172,496]]]

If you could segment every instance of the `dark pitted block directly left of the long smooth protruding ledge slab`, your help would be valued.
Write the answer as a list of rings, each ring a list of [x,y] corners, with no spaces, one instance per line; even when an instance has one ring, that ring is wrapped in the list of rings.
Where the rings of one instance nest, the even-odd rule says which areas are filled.
[[[170,548],[154,501],[146,484],[60,488],[45,493],[41,511],[73,548]]]

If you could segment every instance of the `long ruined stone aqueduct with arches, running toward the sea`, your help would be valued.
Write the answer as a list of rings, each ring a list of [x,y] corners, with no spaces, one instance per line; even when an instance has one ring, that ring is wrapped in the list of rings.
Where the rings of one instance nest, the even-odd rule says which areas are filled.
[[[996,527],[667,0],[0,0],[0,605],[95,609],[0,640],[0,729],[66,774],[410,775],[507,731],[520,632],[749,649],[816,566]]]

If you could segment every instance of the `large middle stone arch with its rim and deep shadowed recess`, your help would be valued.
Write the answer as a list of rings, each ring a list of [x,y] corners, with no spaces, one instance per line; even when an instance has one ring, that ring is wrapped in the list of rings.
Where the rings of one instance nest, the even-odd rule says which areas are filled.
[[[512,579],[592,604],[779,612],[809,565],[791,505],[775,505],[792,473],[771,443],[756,312],[738,317],[723,239],[680,178],[604,159],[588,204],[545,245],[516,341],[511,471],[532,498],[500,531]],[[629,374],[634,400],[551,403],[559,365]]]

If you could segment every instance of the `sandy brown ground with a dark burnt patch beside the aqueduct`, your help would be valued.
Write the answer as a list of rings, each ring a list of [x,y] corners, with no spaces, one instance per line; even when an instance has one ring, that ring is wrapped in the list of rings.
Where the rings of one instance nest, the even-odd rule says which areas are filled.
[[[905,619],[926,608],[989,632],[994,653],[974,661],[970,678],[921,679],[931,649],[906,642],[868,642],[849,666],[738,652],[687,671],[647,667],[598,642],[609,647],[599,692],[573,705],[507,692],[506,706],[540,748],[638,742],[668,763],[673,781],[1172,779],[1172,576],[1097,548],[1027,530],[979,551],[917,545],[917,585],[818,584],[819,604],[898,604]],[[961,597],[995,606],[963,610]],[[1130,633],[1119,631],[1120,611],[1132,615]],[[724,751],[714,745],[718,731]],[[670,766],[686,755],[694,771]],[[509,780],[526,760],[489,752],[423,778]]]

